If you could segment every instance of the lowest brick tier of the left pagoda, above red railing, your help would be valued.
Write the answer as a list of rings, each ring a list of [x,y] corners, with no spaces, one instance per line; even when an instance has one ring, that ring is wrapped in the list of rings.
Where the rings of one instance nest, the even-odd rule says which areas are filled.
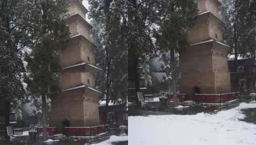
[[[84,89],[58,93],[52,99],[50,125],[58,127],[59,131],[65,119],[72,127],[98,125],[98,99],[98,95]]]

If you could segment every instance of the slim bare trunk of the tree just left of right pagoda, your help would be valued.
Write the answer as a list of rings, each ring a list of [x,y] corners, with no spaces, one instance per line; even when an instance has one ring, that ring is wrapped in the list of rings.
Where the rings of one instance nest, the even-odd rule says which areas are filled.
[[[174,107],[177,107],[178,106],[178,98],[177,98],[177,86],[176,86],[175,50],[170,50],[170,56],[171,56],[171,67],[172,67],[173,105],[174,105]]]

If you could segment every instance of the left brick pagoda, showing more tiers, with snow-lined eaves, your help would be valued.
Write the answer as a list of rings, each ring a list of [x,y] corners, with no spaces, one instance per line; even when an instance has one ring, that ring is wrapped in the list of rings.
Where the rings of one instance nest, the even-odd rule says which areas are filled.
[[[102,71],[96,67],[96,45],[90,41],[92,26],[86,21],[88,10],[83,0],[72,0],[67,23],[71,37],[66,52],[62,53],[60,88],[52,99],[50,126],[63,131],[66,127],[99,125],[98,102],[100,92],[95,88],[95,75]]]

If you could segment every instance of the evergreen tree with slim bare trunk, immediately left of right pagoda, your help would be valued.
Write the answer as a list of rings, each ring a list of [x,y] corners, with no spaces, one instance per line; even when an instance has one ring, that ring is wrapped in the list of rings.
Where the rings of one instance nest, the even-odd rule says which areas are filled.
[[[158,21],[159,28],[156,29],[154,37],[159,49],[169,51],[172,66],[172,86],[174,95],[174,106],[178,106],[176,90],[176,60],[175,53],[188,47],[187,34],[189,28],[195,24],[198,9],[195,0],[158,0],[161,10],[161,20]]]

